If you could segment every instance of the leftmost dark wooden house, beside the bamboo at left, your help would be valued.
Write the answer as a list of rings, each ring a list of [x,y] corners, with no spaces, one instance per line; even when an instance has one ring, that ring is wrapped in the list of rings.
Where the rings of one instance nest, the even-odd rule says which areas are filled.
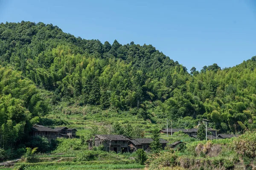
[[[30,133],[31,136],[44,136],[48,139],[49,142],[51,142],[51,139],[57,139],[59,136],[59,132],[55,129],[52,129],[50,127],[45,127],[42,125],[34,125],[32,127],[32,132]]]

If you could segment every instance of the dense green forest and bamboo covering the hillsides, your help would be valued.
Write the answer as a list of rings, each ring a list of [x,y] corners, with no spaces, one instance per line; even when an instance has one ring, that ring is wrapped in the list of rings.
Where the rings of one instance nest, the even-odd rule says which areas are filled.
[[[0,24],[0,147],[16,146],[60,102],[221,132],[256,127],[256,58],[188,71],[152,45],[84,40],[44,23]],[[156,118],[158,122],[156,121]]]

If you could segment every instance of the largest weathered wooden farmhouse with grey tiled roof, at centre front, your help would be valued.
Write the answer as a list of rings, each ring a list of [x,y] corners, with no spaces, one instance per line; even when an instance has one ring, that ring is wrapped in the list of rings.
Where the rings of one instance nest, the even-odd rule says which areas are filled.
[[[113,150],[116,153],[124,153],[129,151],[130,139],[123,135],[94,135],[87,142],[89,148],[103,145],[105,151]]]

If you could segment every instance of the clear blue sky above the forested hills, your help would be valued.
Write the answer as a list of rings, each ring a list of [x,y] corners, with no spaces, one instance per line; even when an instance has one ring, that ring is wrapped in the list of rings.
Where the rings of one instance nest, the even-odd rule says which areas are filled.
[[[0,0],[0,22],[22,20],[102,43],[152,44],[188,70],[256,55],[254,0]]]

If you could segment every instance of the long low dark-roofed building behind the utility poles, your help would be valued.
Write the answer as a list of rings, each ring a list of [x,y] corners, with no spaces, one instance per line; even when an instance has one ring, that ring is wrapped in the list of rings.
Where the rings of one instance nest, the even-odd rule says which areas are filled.
[[[193,135],[197,135],[197,131],[198,131],[198,128],[193,128],[193,129],[175,129],[175,128],[168,128],[168,135],[171,135],[171,134],[174,134],[176,132],[183,132],[187,135],[189,135],[190,137],[193,136]],[[213,136],[215,136],[216,134],[216,130],[215,129],[212,129],[212,128],[207,128],[207,131],[212,133]],[[167,129],[162,129],[160,130],[160,133],[167,133]]]

